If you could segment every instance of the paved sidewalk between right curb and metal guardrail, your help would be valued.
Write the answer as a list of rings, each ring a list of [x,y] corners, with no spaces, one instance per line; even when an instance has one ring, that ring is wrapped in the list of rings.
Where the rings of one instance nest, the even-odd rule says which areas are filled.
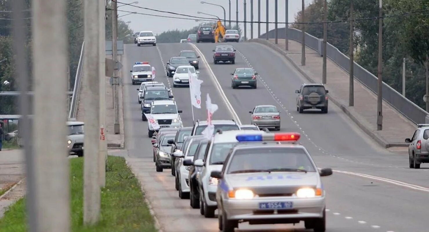
[[[251,39],[249,42],[258,42],[269,46],[281,53],[298,69],[310,82],[322,83],[323,57],[312,50],[305,48],[306,65],[301,66],[301,43],[289,40],[289,51],[285,51],[284,39]],[[330,100],[338,105],[350,119],[352,119],[365,133],[375,139],[384,148],[405,147],[405,138],[412,136],[416,125],[396,111],[387,102],[383,101],[383,130],[377,130],[377,95],[361,84],[354,81],[354,106],[348,106],[349,74],[337,66],[329,58],[326,63],[326,88],[329,90]]]

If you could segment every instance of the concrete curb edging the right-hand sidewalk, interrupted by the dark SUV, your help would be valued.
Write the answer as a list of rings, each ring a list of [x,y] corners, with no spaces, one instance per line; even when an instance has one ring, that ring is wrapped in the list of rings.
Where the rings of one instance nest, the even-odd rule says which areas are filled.
[[[307,73],[305,73],[304,70],[302,70],[295,62],[293,62],[293,60],[290,57],[287,56],[287,53],[285,51],[283,51],[281,48],[279,48],[277,45],[272,44],[271,42],[268,42],[268,41],[263,40],[263,39],[249,39],[246,42],[257,42],[259,44],[266,45],[267,47],[273,49],[274,51],[280,53],[283,57],[285,57],[295,67],[295,69],[298,70],[298,72],[300,72],[305,78],[308,79],[308,81],[310,81],[312,83],[318,83],[317,81],[314,81],[313,78],[311,78],[310,76],[308,76]],[[346,105],[341,104],[337,99],[335,99],[335,97],[332,96],[332,94],[329,94],[329,95],[330,95],[330,100],[332,102],[334,102],[335,105],[337,105],[345,114],[347,114],[347,116],[361,130],[363,130],[367,135],[369,135],[372,139],[374,139],[383,148],[407,147],[408,146],[407,144],[398,144],[398,143],[389,143],[389,142],[387,142],[381,136],[378,136],[377,134],[375,134],[374,132],[372,132],[372,130],[369,127],[367,127],[366,125],[364,125],[360,120],[358,120],[356,118],[358,116],[353,115],[353,113],[347,108]]]

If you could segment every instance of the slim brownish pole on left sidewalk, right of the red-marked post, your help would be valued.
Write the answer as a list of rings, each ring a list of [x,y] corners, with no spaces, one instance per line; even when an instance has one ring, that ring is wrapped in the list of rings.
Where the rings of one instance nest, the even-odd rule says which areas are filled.
[[[119,78],[118,78],[118,2],[112,0],[112,58],[115,67],[113,69],[113,108],[115,110],[115,134],[119,134]]]

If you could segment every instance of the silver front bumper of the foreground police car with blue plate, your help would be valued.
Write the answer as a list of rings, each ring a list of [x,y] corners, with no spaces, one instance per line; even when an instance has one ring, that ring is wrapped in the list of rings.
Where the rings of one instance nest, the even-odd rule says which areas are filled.
[[[292,202],[290,209],[260,209],[259,203],[266,202]],[[323,217],[325,208],[325,198],[308,199],[250,199],[236,200],[224,199],[222,209],[227,213],[228,220],[275,220],[275,219],[295,219]],[[284,222],[283,222],[284,223]]]

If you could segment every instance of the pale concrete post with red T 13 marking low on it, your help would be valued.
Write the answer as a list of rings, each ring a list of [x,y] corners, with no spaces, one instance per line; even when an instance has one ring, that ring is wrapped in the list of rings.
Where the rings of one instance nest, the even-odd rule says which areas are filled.
[[[100,53],[100,152],[99,152],[99,181],[100,187],[106,185],[106,159],[107,159],[107,138],[106,138],[106,1],[100,1],[100,25],[99,25],[99,53]]]

